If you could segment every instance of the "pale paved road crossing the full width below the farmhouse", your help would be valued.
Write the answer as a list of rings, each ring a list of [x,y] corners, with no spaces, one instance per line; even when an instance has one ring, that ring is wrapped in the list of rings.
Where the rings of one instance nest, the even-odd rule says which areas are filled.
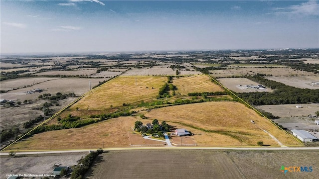
[[[163,141],[162,141],[163,142]],[[145,150],[145,149],[194,149],[194,150],[243,150],[243,151],[276,151],[276,150],[285,150],[285,151],[319,151],[319,147],[123,147],[123,148],[104,148],[104,151],[116,151],[116,150]],[[74,153],[74,152],[90,152],[96,151],[96,149],[81,149],[81,150],[61,150],[61,151],[21,151],[16,152],[16,155],[31,155],[31,154],[56,154],[56,153]],[[1,156],[8,155],[8,152],[0,152]]]

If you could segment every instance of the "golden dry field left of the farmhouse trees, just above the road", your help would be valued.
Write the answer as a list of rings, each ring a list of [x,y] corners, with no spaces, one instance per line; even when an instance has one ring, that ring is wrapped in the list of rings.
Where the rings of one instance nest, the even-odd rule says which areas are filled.
[[[63,129],[35,134],[7,150],[57,150],[129,147],[133,117],[119,117],[76,129]],[[141,139],[143,139],[141,137]]]

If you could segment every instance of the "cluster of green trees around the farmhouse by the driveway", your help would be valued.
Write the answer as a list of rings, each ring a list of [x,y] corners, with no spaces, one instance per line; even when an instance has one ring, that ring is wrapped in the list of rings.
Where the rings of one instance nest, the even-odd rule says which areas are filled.
[[[158,135],[159,137],[164,137],[162,131],[168,132],[170,130],[170,126],[166,123],[166,121],[162,121],[161,124],[159,124],[158,119],[154,119],[152,124],[153,128],[148,128],[143,125],[142,121],[135,121],[134,130],[137,130],[137,132],[152,134],[152,136]]]

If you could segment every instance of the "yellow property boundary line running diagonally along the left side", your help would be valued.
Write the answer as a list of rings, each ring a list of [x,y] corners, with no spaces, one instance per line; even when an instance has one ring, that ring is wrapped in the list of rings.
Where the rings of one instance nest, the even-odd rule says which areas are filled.
[[[118,77],[115,77],[109,81],[107,81],[106,83],[116,79]],[[105,83],[104,83],[105,84]],[[90,92],[92,92],[95,89],[100,88],[102,85],[100,85],[97,88],[91,89],[88,92],[82,94],[80,97],[78,97],[77,99],[75,99],[73,102],[71,102],[69,105],[67,105],[66,107],[62,108],[60,111],[58,111],[57,113],[55,113],[54,115],[52,115],[51,117],[49,117],[48,119],[46,119],[45,121],[43,121],[42,123],[40,123],[39,125],[35,126],[32,130],[30,130],[29,132],[25,133],[23,136],[19,137],[18,139],[16,139],[15,141],[13,141],[11,144],[9,144],[8,146],[4,147],[1,151],[4,151],[6,148],[10,147],[12,144],[16,143],[17,141],[21,140],[24,136],[30,134],[32,131],[34,131],[36,128],[38,128],[39,126],[49,122],[50,120],[52,120],[53,118],[55,118],[57,115],[61,114],[63,111],[65,111],[67,108],[69,108],[71,105],[73,105],[74,103],[76,103],[77,101],[79,101],[80,99],[82,99],[84,96],[86,96],[87,94],[89,94]]]

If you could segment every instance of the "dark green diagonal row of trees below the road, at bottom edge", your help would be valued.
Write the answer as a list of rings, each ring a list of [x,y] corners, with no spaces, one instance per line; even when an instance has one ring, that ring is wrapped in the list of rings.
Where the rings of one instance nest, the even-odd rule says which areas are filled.
[[[96,152],[92,151],[82,158],[78,165],[73,168],[71,179],[83,179],[83,176],[90,169],[96,157],[101,153],[100,150],[97,150]]]

